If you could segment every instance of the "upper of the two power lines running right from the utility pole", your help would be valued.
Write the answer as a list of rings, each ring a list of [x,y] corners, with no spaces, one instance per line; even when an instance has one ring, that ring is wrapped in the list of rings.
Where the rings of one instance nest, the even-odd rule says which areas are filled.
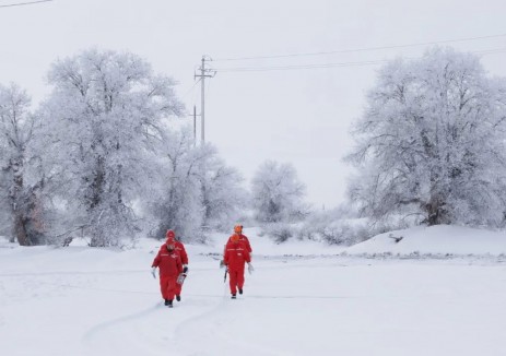
[[[221,58],[221,59],[219,58],[219,59],[213,59],[213,61],[239,61],[239,60],[254,60],[254,59],[273,59],[273,58],[291,58],[291,57],[308,57],[308,56],[328,56],[328,55],[337,55],[337,54],[374,51],[374,50],[381,50],[381,49],[396,49],[396,48],[405,48],[405,47],[420,47],[420,46],[429,46],[429,45],[440,45],[440,44],[449,44],[449,43],[457,43],[457,41],[470,41],[470,40],[480,40],[480,39],[489,39],[489,38],[498,38],[498,37],[505,37],[505,36],[506,36],[506,34],[499,34],[499,35],[467,37],[467,38],[457,38],[457,39],[444,39],[444,40],[435,40],[435,41],[426,41],[426,43],[414,43],[414,44],[405,44],[405,45],[364,47],[364,48],[342,49],[342,50],[320,51],[320,52],[273,55],[273,56],[251,56],[251,57]]]

